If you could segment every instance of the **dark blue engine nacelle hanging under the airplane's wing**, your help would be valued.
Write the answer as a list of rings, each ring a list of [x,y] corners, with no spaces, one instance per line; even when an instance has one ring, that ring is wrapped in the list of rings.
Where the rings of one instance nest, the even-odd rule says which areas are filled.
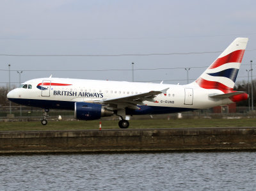
[[[113,116],[114,112],[102,107],[98,103],[76,102],[75,118],[81,120],[94,120],[101,117]]]

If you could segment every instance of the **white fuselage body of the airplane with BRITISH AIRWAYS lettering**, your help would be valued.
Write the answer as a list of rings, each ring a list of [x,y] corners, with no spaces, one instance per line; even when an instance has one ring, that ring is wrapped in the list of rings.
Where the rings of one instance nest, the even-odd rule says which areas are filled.
[[[47,82],[48,85],[42,85],[47,84]],[[47,107],[44,102],[53,101],[49,108],[74,109],[70,106],[74,102],[98,102],[99,100],[122,98],[166,88],[169,88],[166,94],[161,93],[154,98],[154,102],[144,101],[143,104],[154,107],[186,108],[189,110],[206,109],[216,105],[232,103],[228,98],[209,98],[209,95],[221,94],[222,92],[218,89],[200,88],[196,83],[172,85],[109,80],[42,78],[28,80],[23,84],[31,85],[31,89],[13,89],[8,93],[8,98],[13,102],[35,107],[40,107],[39,103],[42,103],[41,107]],[[69,106],[65,107],[63,104],[67,102],[69,102]]]

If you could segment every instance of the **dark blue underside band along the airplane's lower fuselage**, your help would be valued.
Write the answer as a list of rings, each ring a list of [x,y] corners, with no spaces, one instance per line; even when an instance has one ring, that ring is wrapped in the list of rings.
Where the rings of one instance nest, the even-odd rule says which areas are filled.
[[[40,107],[44,109],[67,109],[74,110],[75,102],[65,102],[56,100],[33,100],[33,99],[20,99],[9,98],[10,101],[19,103],[21,105],[27,105],[31,107]],[[193,111],[195,109],[180,108],[180,107],[158,107],[148,105],[138,105],[140,109],[132,110],[126,109],[127,115],[144,115],[144,114],[168,114],[173,112]]]

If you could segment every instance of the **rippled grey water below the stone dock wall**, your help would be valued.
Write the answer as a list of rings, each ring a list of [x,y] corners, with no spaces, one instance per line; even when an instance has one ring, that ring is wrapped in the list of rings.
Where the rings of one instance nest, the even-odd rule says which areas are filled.
[[[0,190],[255,190],[256,153],[0,156]]]

